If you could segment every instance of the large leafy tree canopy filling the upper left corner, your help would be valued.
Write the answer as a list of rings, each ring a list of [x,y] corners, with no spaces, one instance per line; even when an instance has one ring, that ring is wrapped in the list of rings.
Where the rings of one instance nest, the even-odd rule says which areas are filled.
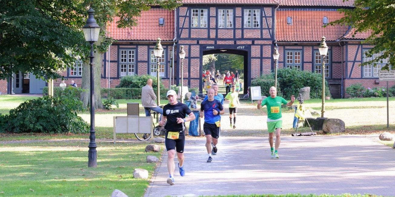
[[[119,28],[136,25],[136,17],[151,5],[173,9],[177,0],[2,0],[0,3],[0,80],[13,72],[60,78],[57,73],[73,65],[79,54],[88,54],[82,26],[92,5],[102,30],[120,17]],[[104,36],[105,32],[102,32]],[[110,39],[111,41],[111,39]],[[107,50],[105,41],[98,47]]]

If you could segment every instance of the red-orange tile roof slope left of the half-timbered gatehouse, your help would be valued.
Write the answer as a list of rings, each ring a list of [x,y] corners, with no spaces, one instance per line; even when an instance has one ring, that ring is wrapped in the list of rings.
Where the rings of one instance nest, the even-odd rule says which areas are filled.
[[[159,18],[164,18],[164,26],[159,26]],[[117,28],[118,17],[107,26],[108,35],[116,40],[154,41],[174,38],[174,12],[163,8],[152,8],[141,12],[137,18],[138,25],[132,28]]]

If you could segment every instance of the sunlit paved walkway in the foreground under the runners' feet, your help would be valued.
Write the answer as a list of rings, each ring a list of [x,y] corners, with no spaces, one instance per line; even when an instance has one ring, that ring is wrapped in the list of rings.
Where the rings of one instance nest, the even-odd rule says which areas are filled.
[[[175,185],[166,183],[165,154],[145,197],[268,193],[395,196],[395,150],[375,142],[378,136],[371,138],[283,136],[280,159],[271,159],[266,137],[220,137],[212,163],[206,163],[205,138],[187,139],[185,177],[180,177],[175,162]]]

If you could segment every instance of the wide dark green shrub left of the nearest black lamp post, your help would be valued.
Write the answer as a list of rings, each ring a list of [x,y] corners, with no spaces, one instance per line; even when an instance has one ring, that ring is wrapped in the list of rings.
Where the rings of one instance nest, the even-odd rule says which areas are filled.
[[[76,112],[85,111],[74,95],[26,100],[1,117],[9,132],[88,133],[89,125]]]

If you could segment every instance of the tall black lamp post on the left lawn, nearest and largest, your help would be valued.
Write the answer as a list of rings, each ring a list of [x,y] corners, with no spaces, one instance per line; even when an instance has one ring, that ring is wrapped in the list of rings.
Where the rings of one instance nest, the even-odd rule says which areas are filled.
[[[88,151],[88,167],[97,167],[97,154],[96,154],[96,142],[95,142],[95,91],[94,91],[94,75],[93,75],[93,43],[98,41],[100,26],[96,23],[93,18],[94,10],[92,7],[88,9],[88,19],[82,30],[85,35],[85,40],[90,43],[90,142]]]

